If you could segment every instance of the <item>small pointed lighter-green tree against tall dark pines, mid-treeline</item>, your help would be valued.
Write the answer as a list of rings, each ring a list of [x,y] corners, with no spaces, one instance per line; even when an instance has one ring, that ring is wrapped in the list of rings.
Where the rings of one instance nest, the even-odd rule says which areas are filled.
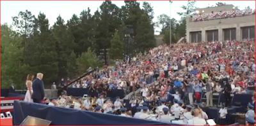
[[[122,59],[123,57],[124,41],[120,39],[118,32],[115,32],[115,36],[111,40],[111,48],[109,52],[112,59]]]

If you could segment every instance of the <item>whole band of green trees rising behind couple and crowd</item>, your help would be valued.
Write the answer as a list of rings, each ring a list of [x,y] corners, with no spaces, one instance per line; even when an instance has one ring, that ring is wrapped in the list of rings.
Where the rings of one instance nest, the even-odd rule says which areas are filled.
[[[193,10],[193,3],[189,2],[188,10]],[[132,56],[137,51],[145,52],[156,46],[154,27],[166,34],[166,43],[170,42],[170,25],[172,41],[186,35],[183,14],[180,21],[173,18],[172,24],[167,15],[157,17],[157,22],[152,21],[154,16],[154,7],[145,1],[124,1],[120,8],[111,1],[102,1],[94,13],[86,8],[67,22],[59,15],[51,25],[43,12],[20,11],[12,18],[15,31],[1,25],[2,87],[14,83],[24,88],[27,74],[39,72],[44,73],[46,85],[60,78],[72,79],[88,67],[102,66],[100,50],[109,49],[109,62],[122,59],[123,53]]]

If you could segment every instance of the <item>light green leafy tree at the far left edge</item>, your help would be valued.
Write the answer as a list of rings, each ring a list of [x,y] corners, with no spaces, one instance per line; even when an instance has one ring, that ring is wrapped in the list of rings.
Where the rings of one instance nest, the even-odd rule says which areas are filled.
[[[22,38],[7,24],[1,25],[1,87],[8,88],[13,83],[24,88],[24,77],[28,66],[22,64],[23,48],[19,48]],[[2,51],[1,50],[1,51]],[[22,81],[23,80],[23,81]]]

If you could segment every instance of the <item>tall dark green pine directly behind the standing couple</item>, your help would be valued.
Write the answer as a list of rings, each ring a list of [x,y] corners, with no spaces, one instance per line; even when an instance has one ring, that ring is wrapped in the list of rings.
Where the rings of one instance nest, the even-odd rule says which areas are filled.
[[[31,53],[31,71],[45,74],[45,83],[51,83],[58,77],[56,43],[49,30],[49,20],[44,13],[39,13],[37,20],[40,34],[33,36],[33,48],[36,51]]]

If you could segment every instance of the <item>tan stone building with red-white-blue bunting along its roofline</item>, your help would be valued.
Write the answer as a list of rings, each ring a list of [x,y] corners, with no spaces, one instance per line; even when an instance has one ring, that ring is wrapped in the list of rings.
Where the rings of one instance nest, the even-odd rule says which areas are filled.
[[[236,10],[233,5],[200,8],[186,17],[189,42],[255,38],[255,10]]]

